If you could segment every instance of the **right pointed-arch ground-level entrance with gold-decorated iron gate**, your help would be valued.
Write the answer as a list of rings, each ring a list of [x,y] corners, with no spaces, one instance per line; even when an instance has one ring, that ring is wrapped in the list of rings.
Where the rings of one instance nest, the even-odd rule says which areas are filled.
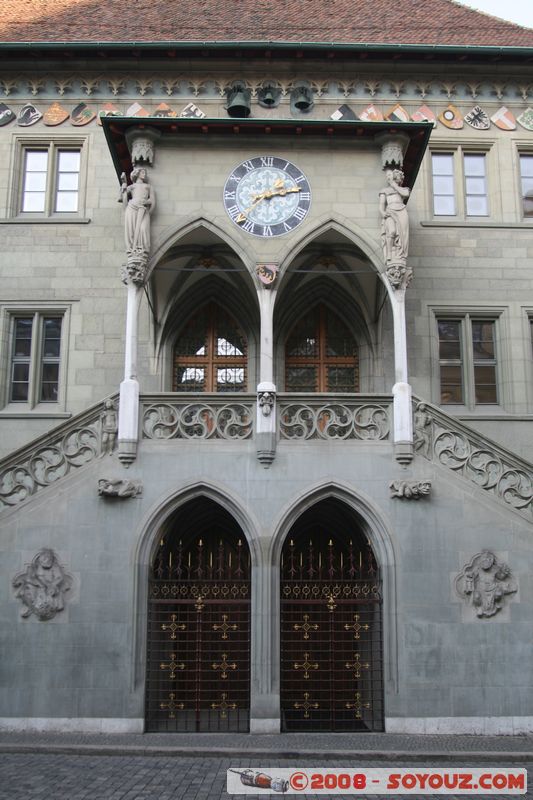
[[[328,498],[304,512],[281,556],[285,731],[382,731],[379,568],[357,515]]]

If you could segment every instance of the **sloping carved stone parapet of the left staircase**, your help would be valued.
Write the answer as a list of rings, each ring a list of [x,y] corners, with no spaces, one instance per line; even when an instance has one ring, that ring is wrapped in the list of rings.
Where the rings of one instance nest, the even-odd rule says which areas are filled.
[[[113,395],[106,400],[115,404],[117,397]],[[17,506],[105,454],[102,416],[106,400],[33,439],[0,461],[0,511]]]

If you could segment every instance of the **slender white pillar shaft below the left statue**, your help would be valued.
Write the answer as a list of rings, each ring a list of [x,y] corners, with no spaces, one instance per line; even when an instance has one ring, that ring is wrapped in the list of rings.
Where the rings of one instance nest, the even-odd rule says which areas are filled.
[[[139,441],[139,381],[137,336],[142,286],[128,282],[124,380],[120,384],[118,457],[126,466],[135,460]]]

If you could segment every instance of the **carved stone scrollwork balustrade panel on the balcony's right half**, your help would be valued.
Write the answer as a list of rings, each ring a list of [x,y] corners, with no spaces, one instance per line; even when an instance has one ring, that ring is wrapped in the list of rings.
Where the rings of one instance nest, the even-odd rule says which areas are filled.
[[[280,434],[282,439],[387,440],[389,412],[386,405],[369,403],[282,403]]]

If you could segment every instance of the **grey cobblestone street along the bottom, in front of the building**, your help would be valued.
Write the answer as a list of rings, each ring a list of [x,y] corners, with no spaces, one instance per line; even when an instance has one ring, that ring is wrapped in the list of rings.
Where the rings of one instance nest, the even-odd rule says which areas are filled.
[[[243,759],[186,758],[181,756],[94,756],[60,755],[45,753],[3,753],[0,756],[0,800],[260,800],[261,797],[282,797],[283,795],[228,795],[226,792],[226,770],[229,767],[255,767],[270,769],[276,767],[319,767],[317,759]],[[330,767],[416,767],[394,760],[390,764],[372,759],[330,760]],[[421,761],[419,767],[484,767],[474,758],[436,761]],[[533,775],[533,756],[531,762],[520,764],[505,761],[503,758],[491,767],[526,768]],[[531,782],[531,780],[530,780]],[[294,797],[295,795],[285,795]],[[383,795],[358,795],[369,800],[390,800]],[[489,795],[462,795],[488,800]],[[492,795],[495,797],[496,795]],[[502,795],[499,795],[502,797]],[[533,798],[533,790],[521,797]],[[338,798],[340,795],[305,795],[306,800]],[[396,795],[398,797],[398,795]],[[399,797],[418,798],[423,795],[400,795]],[[427,797],[427,795],[426,795]],[[433,795],[435,797],[435,795]],[[443,795],[441,795],[443,797]],[[460,795],[446,795],[448,800],[456,800]]]

